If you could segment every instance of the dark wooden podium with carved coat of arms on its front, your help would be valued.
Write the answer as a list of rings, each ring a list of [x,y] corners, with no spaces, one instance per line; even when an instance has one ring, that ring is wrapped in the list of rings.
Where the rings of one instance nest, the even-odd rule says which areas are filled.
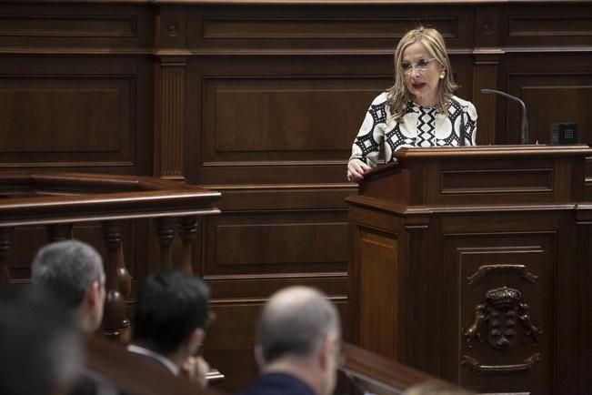
[[[355,344],[468,389],[592,393],[587,146],[409,148],[349,207]]]

